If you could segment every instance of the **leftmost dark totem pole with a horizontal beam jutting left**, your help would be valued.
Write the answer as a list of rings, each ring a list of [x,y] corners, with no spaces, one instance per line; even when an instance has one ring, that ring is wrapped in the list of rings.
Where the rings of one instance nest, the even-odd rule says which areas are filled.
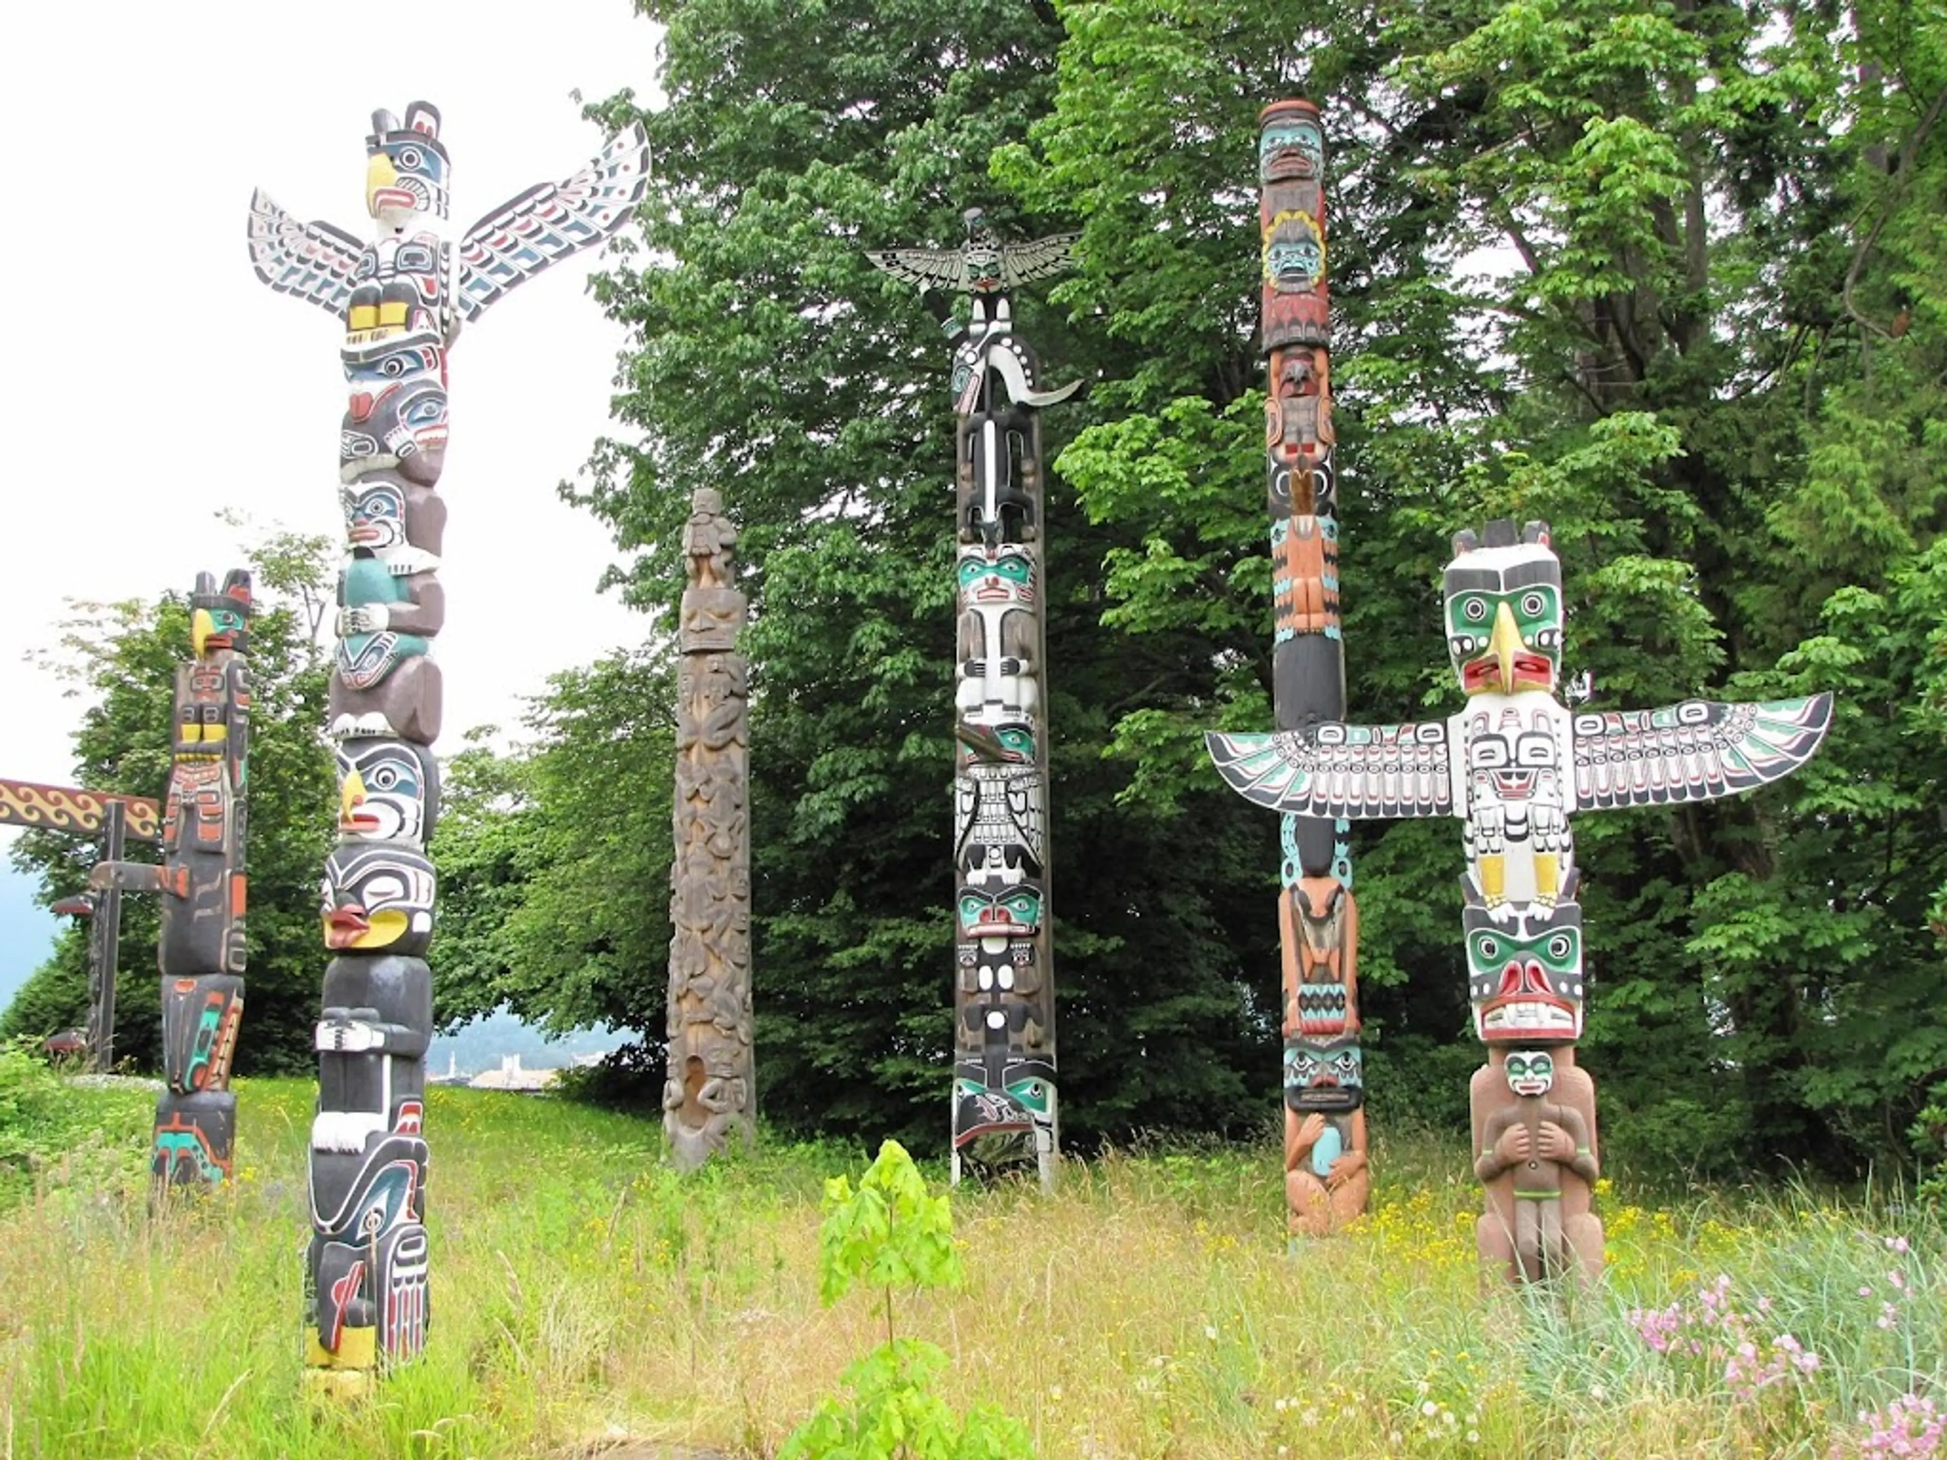
[[[175,670],[175,759],[162,866],[103,860],[90,886],[162,897],[162,1075],[150,1172],[158,1186],[230,1176],[238,1098],[230,1059],[243,1020],[243,831],[249,755],[249,574],[197,574],[195,658]]]

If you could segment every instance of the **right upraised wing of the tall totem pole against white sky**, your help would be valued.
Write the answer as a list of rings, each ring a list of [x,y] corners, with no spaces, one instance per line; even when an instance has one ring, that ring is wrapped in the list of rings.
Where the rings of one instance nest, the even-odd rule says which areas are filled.
[[[502,202],[459,239],[459,317],[570,253],[600,243],[635,216],[648,193],[648,134],[625,127],[602,154],[561,183],[537,183]]]

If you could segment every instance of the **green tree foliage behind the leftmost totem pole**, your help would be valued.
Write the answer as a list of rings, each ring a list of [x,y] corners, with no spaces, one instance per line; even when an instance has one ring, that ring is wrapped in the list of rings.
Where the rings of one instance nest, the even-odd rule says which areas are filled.
[[[321,736],[327,660],[317,625],[327,594],[325,543],[273,535],[245,555],[255,572],[251,617],[249,740],[249,966],[239,1073],[312,1067],[312,1026],[323,948],[317,934],[317,868],[331,841],[331,749]],[[220,566],[220,565],[218,565]],[[56,672],[92,701],[74,736],[74,779],[97,790],[162,796],[169,783],[175,666],[189,656],[189,596],[154,603],[78,603]],[[130,860],[156,847],[129,845]],[[49,899],[88,886],[97,849],[78,837],[29,831],[14,851],[37,872]],[[156,905],[125,894],[115,973],[115,1057],[160,1067]],[[53,958],[0,1014],[0,1038],[41,1038],[88,1022],[86,927],[62,932]]]

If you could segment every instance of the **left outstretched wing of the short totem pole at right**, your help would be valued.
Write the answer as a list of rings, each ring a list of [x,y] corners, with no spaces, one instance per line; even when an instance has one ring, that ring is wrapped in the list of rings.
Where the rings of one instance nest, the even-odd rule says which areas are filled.
[[[1205,734],[1223,779],[1258,806],[1297,816],[1464,816],[1445,720],[1338,724],[1264,736]]]

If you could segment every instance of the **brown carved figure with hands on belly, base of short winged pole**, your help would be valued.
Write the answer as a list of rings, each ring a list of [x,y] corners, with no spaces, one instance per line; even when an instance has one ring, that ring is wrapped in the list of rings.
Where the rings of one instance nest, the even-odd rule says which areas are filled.
[[[1550,1098],[1558,1055],[1548,1049],[1497,1049],[1499,1069],[1480,1071],[1472,1088],[1474,1174],[1488,1187],[1476,1244],[1484,1263],[1513,1263],[1509,1275],[1526,1283],[1602,1271],[1602,1224],[1589,1213],[1600,1174],[1595,1090],[1563,1055],[1565,1073],[1581,1077],[1577,1100]]]

